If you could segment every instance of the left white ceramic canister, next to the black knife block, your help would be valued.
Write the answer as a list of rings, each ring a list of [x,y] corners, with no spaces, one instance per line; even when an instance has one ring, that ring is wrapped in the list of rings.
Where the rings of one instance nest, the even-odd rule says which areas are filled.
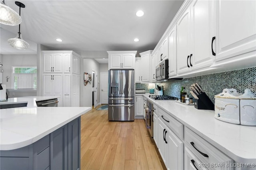
[[[240,124],[239,97],[230,93],[230,89],[224,89],[222,93],[215,95],[215,115],[220,121]]]

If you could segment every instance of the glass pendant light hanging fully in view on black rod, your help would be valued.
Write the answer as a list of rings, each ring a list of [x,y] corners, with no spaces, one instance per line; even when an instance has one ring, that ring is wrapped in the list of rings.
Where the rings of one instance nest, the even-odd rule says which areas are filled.
[[[15,4],[17,6],[19,6],[20,8],[25,8],[25,5],[22,4],[21,2],[16,1]],[[27,49],[29,47],[29,44],[22,39],[22,36],[20,33],[20,25],[19,25],[19,32],[18,32],[16,38],[10,38],[8,40],[8,43],[12,47],[17,48],[17,49]]]

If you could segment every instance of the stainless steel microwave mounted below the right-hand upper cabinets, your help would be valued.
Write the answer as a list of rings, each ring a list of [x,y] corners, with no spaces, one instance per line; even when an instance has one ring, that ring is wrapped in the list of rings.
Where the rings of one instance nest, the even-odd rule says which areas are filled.
[[[156,81],[169,78],[169,60],[166,59],[156,66]]]

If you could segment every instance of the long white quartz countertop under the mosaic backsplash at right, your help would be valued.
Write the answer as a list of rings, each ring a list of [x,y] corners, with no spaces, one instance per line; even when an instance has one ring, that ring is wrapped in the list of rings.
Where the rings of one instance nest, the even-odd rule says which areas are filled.
[[[176,101],[153,100],[149,95],[143,94],[233,160],[256,163],[256,126],[223,122],[214,118],[214,111],[199,110],[194,105],[183,105]]]

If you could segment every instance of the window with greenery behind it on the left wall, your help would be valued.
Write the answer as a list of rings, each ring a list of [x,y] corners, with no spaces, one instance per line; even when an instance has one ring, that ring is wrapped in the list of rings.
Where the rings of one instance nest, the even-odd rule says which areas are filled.
[[[14,89],[36,89],[36,67],[12,67]]]

